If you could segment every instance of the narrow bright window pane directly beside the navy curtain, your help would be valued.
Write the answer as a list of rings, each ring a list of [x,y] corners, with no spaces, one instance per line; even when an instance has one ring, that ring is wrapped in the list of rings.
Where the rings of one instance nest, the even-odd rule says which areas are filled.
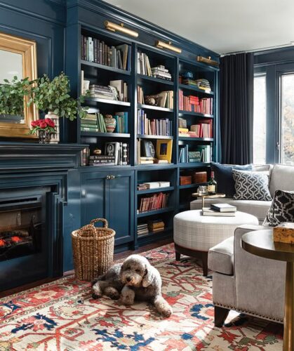
[[[294,86],[293,86],[294,90]],[[253,163],[266,163],[266,76],[254,77]],[[294,102],[294,100],[293,100]],[[294,105],[293,105],[294,107]]]

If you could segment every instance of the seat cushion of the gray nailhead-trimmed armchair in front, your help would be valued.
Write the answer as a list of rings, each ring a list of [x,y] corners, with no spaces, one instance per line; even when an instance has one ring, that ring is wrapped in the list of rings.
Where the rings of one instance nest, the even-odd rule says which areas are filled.
[[[208,268],[213,272],[234,274],[234,236],[225,239],[208,251]]]

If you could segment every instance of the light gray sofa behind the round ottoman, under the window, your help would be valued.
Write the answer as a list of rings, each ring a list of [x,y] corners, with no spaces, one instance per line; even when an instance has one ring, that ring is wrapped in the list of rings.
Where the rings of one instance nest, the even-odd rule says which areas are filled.
[[[269,192],[272,197],[276,190],[294,190],[294,166],[285,166],[282,164],[262,166],[253,166],[253,171],[269,171]],[[224,202],[237,207],[238,211],[250,213],[258,218],[260,224],[265,220],[271,201],[256,201],[256,200],[234,200],[225,197],[223,199],[206,199],[205,204]],[[196,199],[190,203],[191,210],[201,209],[202,200]]]

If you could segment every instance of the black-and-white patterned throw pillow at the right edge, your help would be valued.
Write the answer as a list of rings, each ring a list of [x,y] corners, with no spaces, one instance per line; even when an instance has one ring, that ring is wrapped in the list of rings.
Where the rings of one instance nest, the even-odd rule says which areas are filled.
[[[275,227],[283,222],[294,222],[294,192],[276,190],[263,225]]]

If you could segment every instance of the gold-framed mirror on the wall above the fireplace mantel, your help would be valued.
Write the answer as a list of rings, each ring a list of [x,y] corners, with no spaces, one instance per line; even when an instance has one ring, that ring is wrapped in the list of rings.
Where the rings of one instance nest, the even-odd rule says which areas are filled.
[[[36,79],[36,42],[0,33],[0,136],[32,138],[29,128],[38,117],[27,105]]]

